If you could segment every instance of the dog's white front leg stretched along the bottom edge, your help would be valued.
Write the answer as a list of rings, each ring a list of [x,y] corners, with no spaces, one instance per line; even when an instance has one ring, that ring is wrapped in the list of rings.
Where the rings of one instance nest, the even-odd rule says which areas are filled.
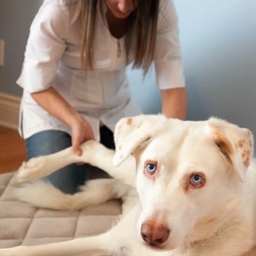
[[[18,246],[0,249],[0,256],[74,256],[74,255],[111,255],[114,248],[112,237],[108,233],[88,238],[77,238],[60,243],[44,245]]]

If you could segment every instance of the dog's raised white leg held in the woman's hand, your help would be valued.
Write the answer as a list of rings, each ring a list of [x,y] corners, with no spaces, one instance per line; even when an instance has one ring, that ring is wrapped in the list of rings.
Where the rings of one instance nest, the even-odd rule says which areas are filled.
[[[81,144],[83,154],[77,156],[72,147],[47,156],[39,156],[23,163],[18,172],[18,180],[34,180],[49,175],[71,163],[84,162],[105,170],[112,177],[126,184],[135,184],[135,159],[130,156],[119,167],[112,166],[114,151],[89,140]]]

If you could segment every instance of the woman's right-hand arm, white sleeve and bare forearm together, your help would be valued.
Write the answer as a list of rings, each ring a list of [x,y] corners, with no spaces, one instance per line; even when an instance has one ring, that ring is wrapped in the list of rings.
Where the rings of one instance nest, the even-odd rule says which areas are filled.
[[[162,114],[184,120],[187,114],[178,17],[172,0],[160,1],[154,55],[156,79],[161,90]]]

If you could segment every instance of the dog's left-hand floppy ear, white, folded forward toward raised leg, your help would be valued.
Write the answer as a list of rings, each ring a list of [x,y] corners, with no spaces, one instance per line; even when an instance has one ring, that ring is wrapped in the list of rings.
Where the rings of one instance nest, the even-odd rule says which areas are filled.
[[[113,166],[119,166],[137,147],[156,135],[163,129],[163,123],[166,121],[166,117],[161,115],[140,115],[121,119],[114,132],[116,154]]]

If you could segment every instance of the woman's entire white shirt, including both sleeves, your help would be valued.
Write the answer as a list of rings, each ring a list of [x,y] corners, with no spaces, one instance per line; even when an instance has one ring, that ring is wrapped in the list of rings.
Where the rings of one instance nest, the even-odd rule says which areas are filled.
[[[79,53],[78,16],[79,0],[45,0],[32,22],[22,73],[17,81],[24,89],[20,134],[25,139],[43,130],[71,133],[69,126],[48,114],[30,95],[50,86],[86,118],[97,140],[100,123],[114,130],[122,117],[140,114],[139,107],[130,99],[124,39],[114,38],[105,15],[98,15],[95,69],[84,72]],[[184,86],[178,34],[173,1],[161,0],[154,53],[156,79],[161,90]],[[133,60],[133,53],[129,60]]]

